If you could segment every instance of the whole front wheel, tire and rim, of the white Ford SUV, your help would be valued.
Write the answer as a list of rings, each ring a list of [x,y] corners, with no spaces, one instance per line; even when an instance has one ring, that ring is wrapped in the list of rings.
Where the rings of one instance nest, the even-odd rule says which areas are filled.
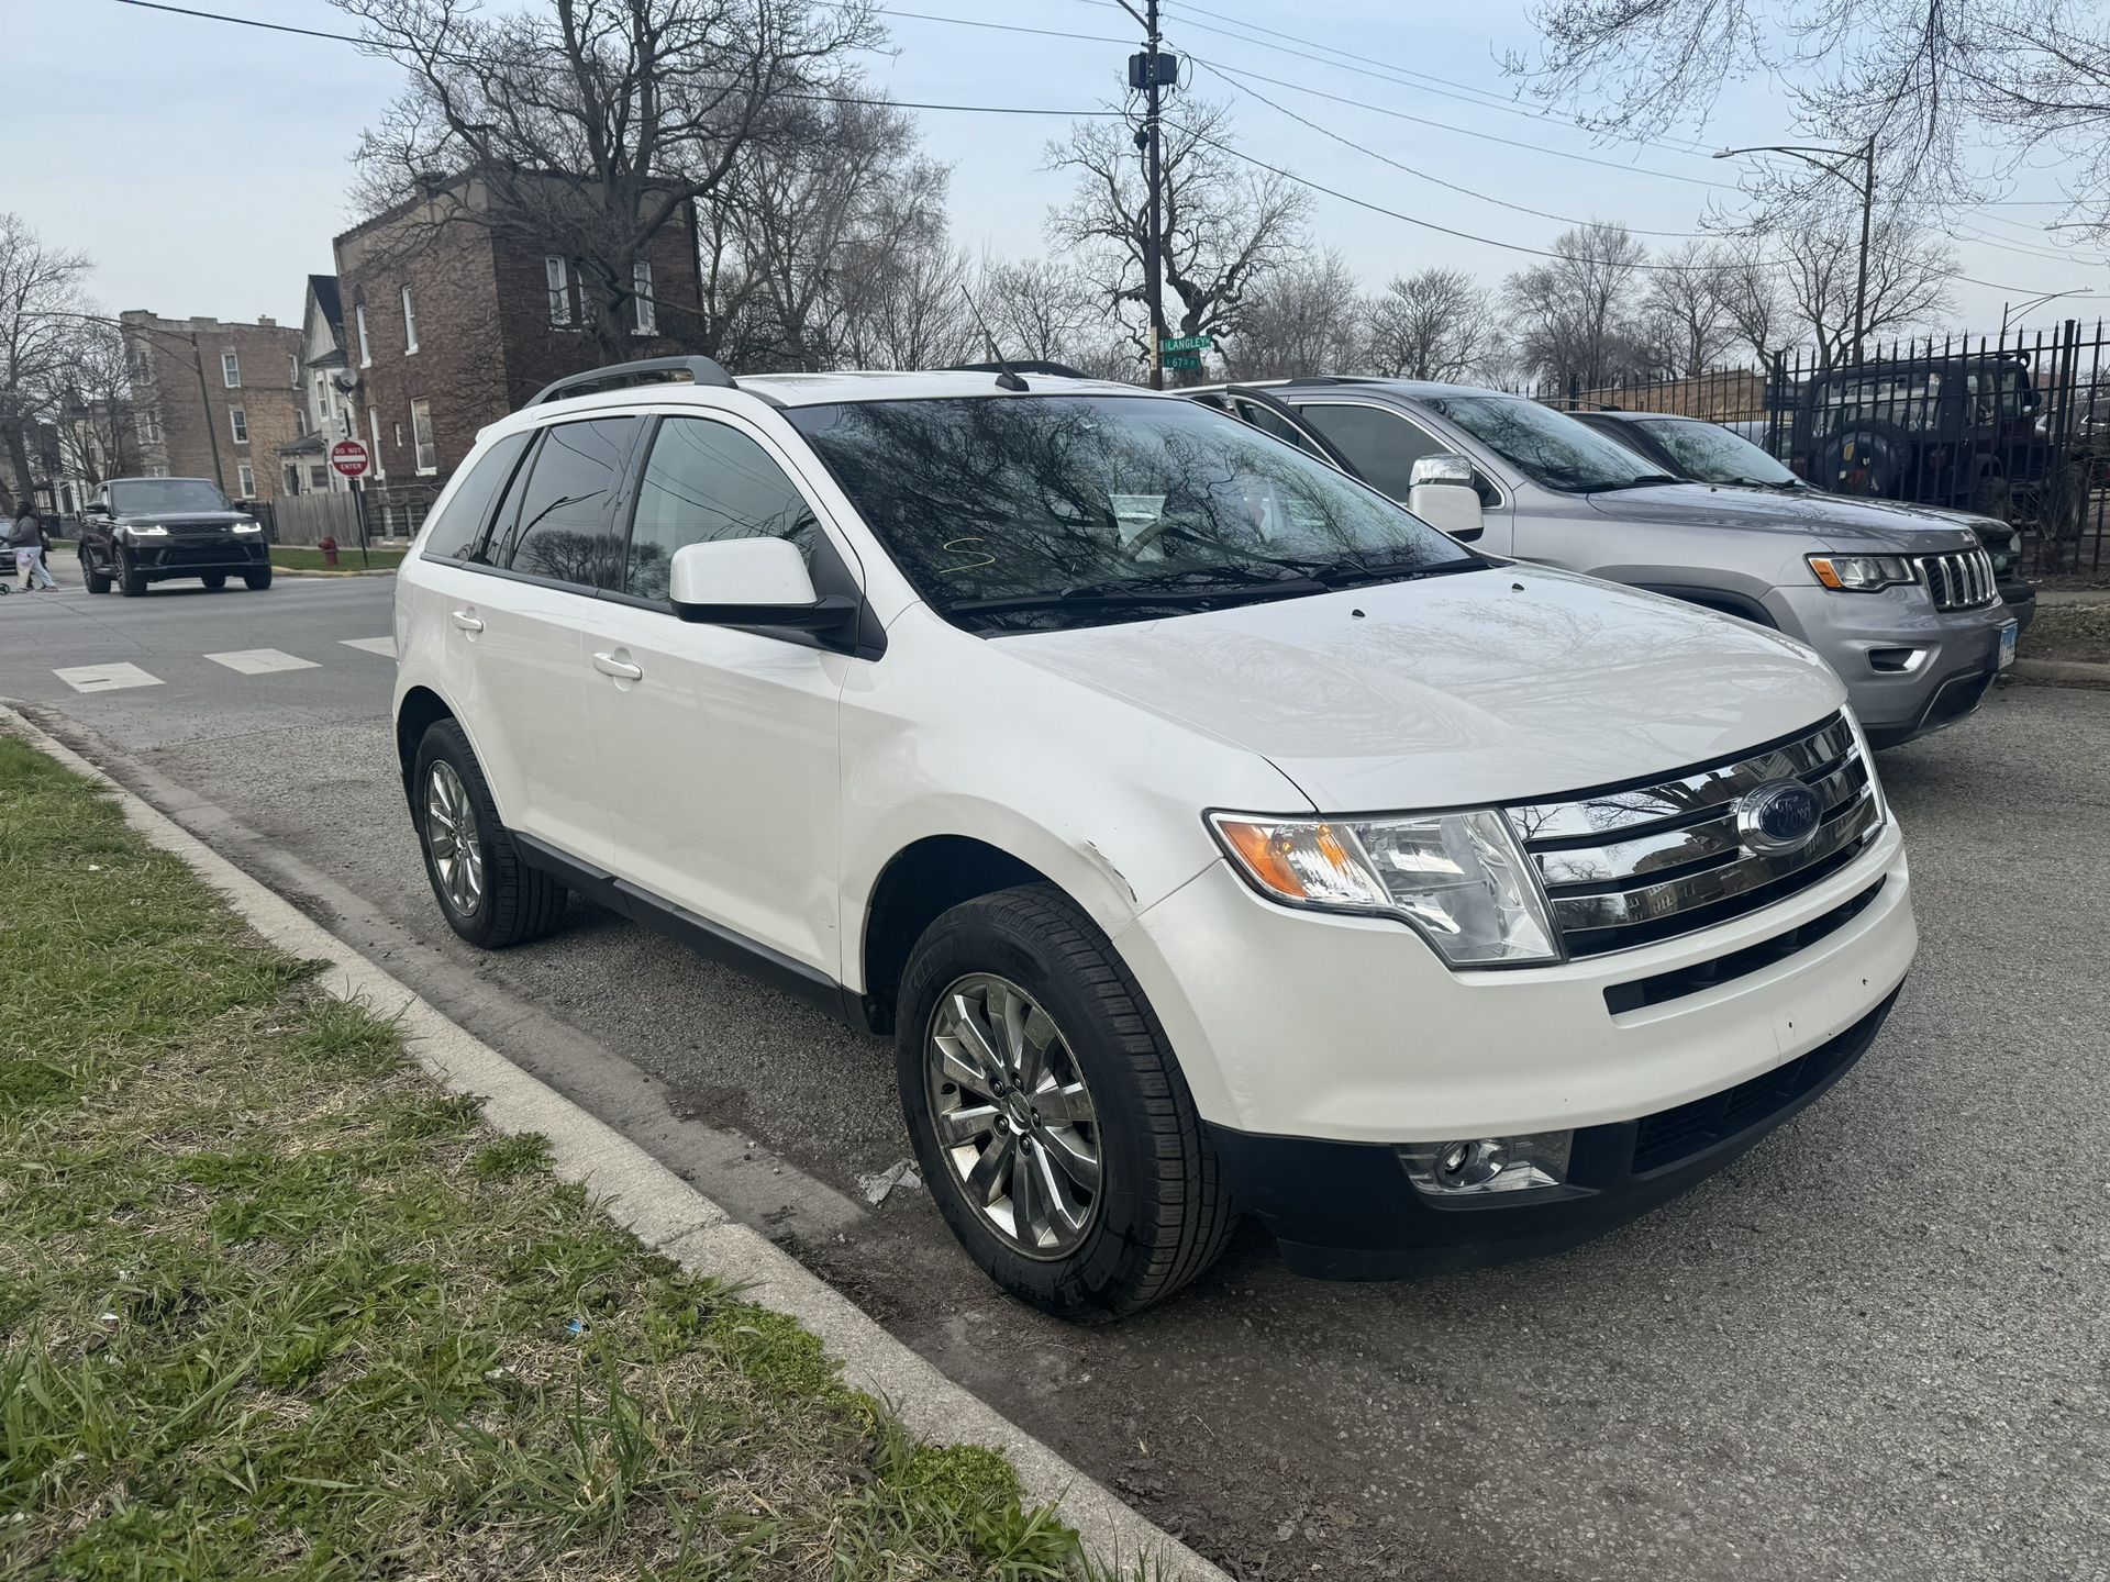
[[[1021,1301],[1118,1318],[1224,1251],[1236,1215],[1165,1029],[1053,886],[931,924],[901,979],[895,1055],[945,1223]]]

